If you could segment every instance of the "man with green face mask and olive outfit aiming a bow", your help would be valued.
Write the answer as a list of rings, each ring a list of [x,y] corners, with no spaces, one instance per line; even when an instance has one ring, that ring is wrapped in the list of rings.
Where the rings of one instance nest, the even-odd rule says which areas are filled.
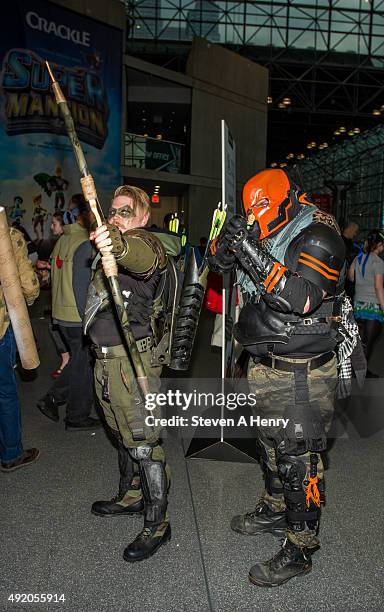
[[[108,213],[108,225],[92,232],[96,247],[112,251],[132,333],[136,340],[151,392],[160,388],[161,359],[156,359],[157,321],[161,317],[159,290],[168,256],[177,255],[177,236],[155,235],[144,229],[149,219],[148,195],[130,185],[119,187]],[[167,243],[164,246],[163,243]],[[167,515],[169,471],[160,430],[146,424],[131,360],[117,325],[101,269],[92,281],[85,328],[93,342],[95,388],[106,423],[116,440],[120,470],[119,492],[112,500],[99,500],[93,514],[103,517],[144,514],[144,529],[124,551],[128,562],[153,555],[171,537]],[[159,343],[158,343],[159,341]],[[154,411],[155,416],[159,416]]]

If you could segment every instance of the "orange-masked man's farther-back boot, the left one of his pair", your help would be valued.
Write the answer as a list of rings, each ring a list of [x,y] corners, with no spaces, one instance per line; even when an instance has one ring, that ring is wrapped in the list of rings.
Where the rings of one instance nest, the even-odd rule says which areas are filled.
[[[285,512],[272,512],[265,501],[261,500],[252,512],[239,514],[231,520],[231,529],[243,535],[271,533],[282,536],[287,528]]]

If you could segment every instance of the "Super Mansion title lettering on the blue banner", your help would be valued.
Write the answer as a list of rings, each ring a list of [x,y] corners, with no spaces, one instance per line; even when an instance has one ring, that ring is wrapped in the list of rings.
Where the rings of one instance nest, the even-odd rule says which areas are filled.
[[[102,149],[108,136],[109,106],[101,76],[86,68],[51,64],[67,99],[77,134]],[[0,75],[5,131],[9,136],[50,132],[66,135],[44,60],[27,49],[10,49]]]

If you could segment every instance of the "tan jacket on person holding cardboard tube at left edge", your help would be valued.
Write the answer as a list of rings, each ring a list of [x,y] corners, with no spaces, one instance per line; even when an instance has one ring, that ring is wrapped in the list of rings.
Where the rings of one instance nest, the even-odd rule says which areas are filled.
[[[13,252],[19,272],[20,284],[28,306],[31,306],[40,292],[39,281],[28,259],[27,244],[24,236],[15,228],[10,229]],[[3,290],[0,285],[0,339],[4,336],[9,325],[9,315],[4,300]]]

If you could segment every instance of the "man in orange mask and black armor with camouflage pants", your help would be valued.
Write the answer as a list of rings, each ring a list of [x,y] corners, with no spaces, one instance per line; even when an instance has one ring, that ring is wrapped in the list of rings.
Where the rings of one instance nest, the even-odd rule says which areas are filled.
[[[246,218],[224,228],[210,266],[238,264],[244,304],[234,336],[250,353],[248,380],[257,413],[289,419],[259,430],[265,491],[253,512],[231,527],[245,535],[285,534],[282,549],[249,578],[278,586],[311,570],[324,493],[321,451],[333,414],[335,347],[343,291],[344,243],[283,170],[264,170],[245,185]],[[340,296],[340,297],[338,297]],[[273,421],[275,422],[275,421]]]

